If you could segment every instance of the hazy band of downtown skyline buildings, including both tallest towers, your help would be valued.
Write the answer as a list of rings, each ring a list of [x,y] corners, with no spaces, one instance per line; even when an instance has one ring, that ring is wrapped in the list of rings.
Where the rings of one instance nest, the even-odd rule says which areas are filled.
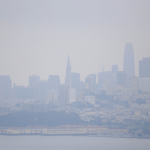
[[[97,82],[98,79],[98,82]],[[135,76],[134,52],[132,43],[126,43],[123,71],[112,65],[111,71],[103,69],[98,76],[90,74],[80,81],[80,73],[71,72],[68,56],[65,83],[60,84],[59,75],[49,75],[48,80],[39,76],[29,76],[29,86],[11,85],[10,76],[0,76],[0,101],[41,101],[46,104],[57,101],[71,104],[85,101],[95,105],[95,96],[102,93],[113,95],[114,100],[129,101],[136,98],[139,91],[150,92],[150,58],[139,61],[139,77]]]

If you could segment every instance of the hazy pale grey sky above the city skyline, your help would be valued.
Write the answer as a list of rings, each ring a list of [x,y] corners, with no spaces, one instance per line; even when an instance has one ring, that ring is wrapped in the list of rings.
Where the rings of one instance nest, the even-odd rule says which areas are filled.
[[[119,65],[132,42],[135,71],[150,57],[150,0],[0,0],[0,75],[65,80],[67,56],[81,80]]]

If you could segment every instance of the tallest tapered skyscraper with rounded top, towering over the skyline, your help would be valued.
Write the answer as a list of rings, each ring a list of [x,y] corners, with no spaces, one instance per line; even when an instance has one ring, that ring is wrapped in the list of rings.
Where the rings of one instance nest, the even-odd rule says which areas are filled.
[[[126,43],[125,45],[123,71],[126,72],[127,78],[135,76],[134,51],[132,43]]]

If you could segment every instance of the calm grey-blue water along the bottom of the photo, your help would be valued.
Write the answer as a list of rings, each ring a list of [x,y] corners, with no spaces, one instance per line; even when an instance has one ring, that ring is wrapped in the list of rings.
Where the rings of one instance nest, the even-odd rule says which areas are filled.
[[[150,150],[150,139],[1,135],[0,150]]]

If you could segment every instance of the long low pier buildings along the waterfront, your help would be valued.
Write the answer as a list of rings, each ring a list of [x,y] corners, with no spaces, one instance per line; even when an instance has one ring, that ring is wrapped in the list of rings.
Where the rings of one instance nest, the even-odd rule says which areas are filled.
[[[60,126],[55,128],[9,128],[0,130],[5,135],[123,135],[128,134],[128,129],[110,129],[99,126]]]

